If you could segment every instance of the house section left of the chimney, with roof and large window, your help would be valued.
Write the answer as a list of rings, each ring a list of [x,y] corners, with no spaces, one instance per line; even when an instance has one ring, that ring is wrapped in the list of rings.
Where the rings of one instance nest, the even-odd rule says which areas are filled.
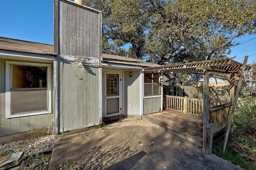
[[[55,59],[52,45],[0,37],[0,136],[49,125]]]

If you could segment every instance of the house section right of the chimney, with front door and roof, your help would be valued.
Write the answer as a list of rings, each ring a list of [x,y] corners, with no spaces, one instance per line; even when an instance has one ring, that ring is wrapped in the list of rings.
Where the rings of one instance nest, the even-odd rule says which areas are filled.
[[[162,111],[160,74],[142,72],[144,67],[157,66],[157,64],[107,54],[102,54],[102,59],[102,117],[116,114],[142,116]],[[117,88],[119,95],[116,94],[118,97],[108,92],[108,77],[111,75],[119,78],[119,88]],[[117,106],[114,102],[119,102],[119,107],[116,107],[115,111],[109,110],[108,107],[113,109],[111,105]]]

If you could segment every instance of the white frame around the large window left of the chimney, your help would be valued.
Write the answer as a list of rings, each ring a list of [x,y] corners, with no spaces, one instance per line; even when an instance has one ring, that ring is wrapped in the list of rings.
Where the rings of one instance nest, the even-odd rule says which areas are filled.
[[[20,114],[11,114],[11,65],[20,65],[20,66],[44,66],[47,67],[47,111],[38,111],[30,113],[20,113]],[[31,115],[42,115],[47,113],[52,113],[52,86],[51,86],[51,64],[40,64],[40,63],[26,63],[26,62],[17,62],[17,61],[6,61],[6,118],[14,117],[24,117]]]

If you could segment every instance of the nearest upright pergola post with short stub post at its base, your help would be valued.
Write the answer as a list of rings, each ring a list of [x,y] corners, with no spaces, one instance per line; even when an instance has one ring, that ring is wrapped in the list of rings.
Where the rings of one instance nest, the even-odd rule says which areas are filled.
[[[212,153],[213,124],[209,123],[209,72],[204,69],[203,83],[203,147],[202,150],[206,154]]]

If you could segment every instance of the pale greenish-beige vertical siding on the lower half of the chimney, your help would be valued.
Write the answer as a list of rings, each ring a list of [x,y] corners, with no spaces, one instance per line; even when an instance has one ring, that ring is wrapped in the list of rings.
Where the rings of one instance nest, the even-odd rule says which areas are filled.
[[[99,125],[99,68],[59,59],[60,132]]]

